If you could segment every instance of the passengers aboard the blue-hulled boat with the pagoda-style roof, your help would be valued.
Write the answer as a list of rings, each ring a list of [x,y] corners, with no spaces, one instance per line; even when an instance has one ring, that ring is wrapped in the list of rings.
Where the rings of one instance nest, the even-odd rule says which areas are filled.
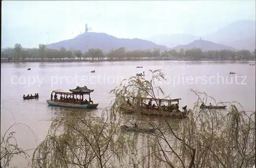
[[[92,103],[93,104],[93,101],[91,100],[91,97],[89,98],[89,101],[86,99],[86,100],[83,100],[82,98],[74,98],[74,95],[73,97],[71,97],[71,95],[66,95],[65,96],[62,96],[60,95],[60,98],[58,100],[58,96],[57,94],[55,93],[54,95],[54,99],[53,99],[53,94],[51,93],[51,101],[60,101],[60,102],[66,102],[66,103],[80,103],[80,104],[90,104]]]

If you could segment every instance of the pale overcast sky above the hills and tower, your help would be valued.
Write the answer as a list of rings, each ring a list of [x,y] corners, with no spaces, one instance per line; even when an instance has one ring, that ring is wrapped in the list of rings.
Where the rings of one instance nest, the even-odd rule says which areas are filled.
[[[205,35],[239,19],[255,20],[255,1],[2,1],[2,48],[38,47],[84,32],[118,38]]]

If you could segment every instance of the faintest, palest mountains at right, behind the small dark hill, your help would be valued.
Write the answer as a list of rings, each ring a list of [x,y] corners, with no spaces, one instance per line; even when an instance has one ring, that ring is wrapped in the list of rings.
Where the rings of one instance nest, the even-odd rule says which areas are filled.
[[[212,41],[218,44],[224,44],[236,49],[255,48],[255,20],[238,20],[222,27],[218,31],[202,36],[203,40]],[[177,45],[188,44],[200,37],[187,34],[173,35],[155,35],[147,38],[156,44],[166,45],[167,47],[175,47]]]

